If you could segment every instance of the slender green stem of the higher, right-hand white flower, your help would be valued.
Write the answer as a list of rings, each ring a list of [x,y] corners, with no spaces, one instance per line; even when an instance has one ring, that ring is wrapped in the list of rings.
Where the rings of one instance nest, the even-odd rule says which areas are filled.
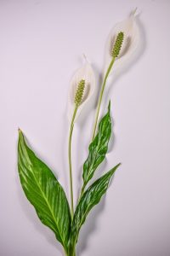
[[[109,65],[108,69],[107,69],[107,72],[105,73],[105,79],[104,79],[104,82],[102,84],[101,91],[100,91],[100,94],[99,94],[99,101],[98,101],[98,106],[97,106],[97,111],[96,111],[95,122],[94,122],[94,131],[93,131],[92,141],[94,140],[96,127],[97,127],[97,124],[98,124],[99,108],[100,108],[102,97],[103,97],[103,94],[104,94],[105,84],[106,84],[107,78],[109,76],[109,73],[111,72],[111,67],[113,66],[114,62],[115,62],[115,57],[112,58],[111,63]]]

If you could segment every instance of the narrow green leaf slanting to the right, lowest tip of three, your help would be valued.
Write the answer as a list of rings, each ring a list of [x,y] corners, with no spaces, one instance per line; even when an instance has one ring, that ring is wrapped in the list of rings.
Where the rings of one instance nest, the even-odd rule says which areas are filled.
[[[71,226],[70,247],[75,247],[79,231],[87,218],[88,212],[99,203],[102,195],[105,194],[110,179],[114,172],[116,172],[118,166],[120,166],[120,164],[116,165],[110,172],[106,172],[104,176],[97,179],[82,195],[82,198],[77,205]]]

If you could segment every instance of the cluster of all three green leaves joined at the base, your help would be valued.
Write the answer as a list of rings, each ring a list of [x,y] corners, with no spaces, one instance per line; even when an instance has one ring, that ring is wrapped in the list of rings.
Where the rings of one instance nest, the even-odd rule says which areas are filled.
[[[26,144],[19,131],[18,169],[20,183],[27,199],[35,207],[42,224],[54,231],[57,240],[65,249],[65,255],[75,256],[75,247],[82,224],[88,212],[99,203],[105,194],[111,177],[120,164],[97,179],[85,192],[85,186],[94,176],[99,164],[105,159],[111,137],[111,102],[108,111],[99,122],[99,131],[89,145],[88,159],[83,166],[83,186],[76,212],[71,220],[71,211],[64,189],[54,177],[54,173],[39,160]]]

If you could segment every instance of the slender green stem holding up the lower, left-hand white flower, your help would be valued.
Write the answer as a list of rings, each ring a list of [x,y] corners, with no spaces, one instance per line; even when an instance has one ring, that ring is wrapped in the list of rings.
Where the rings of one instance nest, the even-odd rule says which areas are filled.
[[[69,134],[69,145],[68,145],[68,158],[69,158],[69,174],[70,174],[70,191],[71,191],[71,218],[73,218],[74,215],[74,201],[73,201],[73,187],[72,187],[72,167],[71,167],[71,137],[72,137],[72,131],[74,128],[74,121],[77,114],[77,108],[78,106],[75,106],[74,113],[72,115],[71,119],[71,128],[70,128],[70,134]]]

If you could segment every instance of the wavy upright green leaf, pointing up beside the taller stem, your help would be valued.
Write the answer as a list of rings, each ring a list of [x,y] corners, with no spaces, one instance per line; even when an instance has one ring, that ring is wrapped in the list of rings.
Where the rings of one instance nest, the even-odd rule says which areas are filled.
[[[83,165],[83,188],[88,181],[94,176],[94,172],[99,164],[105,159],[107,153],[108,143],[111,137],[111,102],[109,102],[108,112],[99,122],[99,131],[90,143],[88,148],[88,159]]]

